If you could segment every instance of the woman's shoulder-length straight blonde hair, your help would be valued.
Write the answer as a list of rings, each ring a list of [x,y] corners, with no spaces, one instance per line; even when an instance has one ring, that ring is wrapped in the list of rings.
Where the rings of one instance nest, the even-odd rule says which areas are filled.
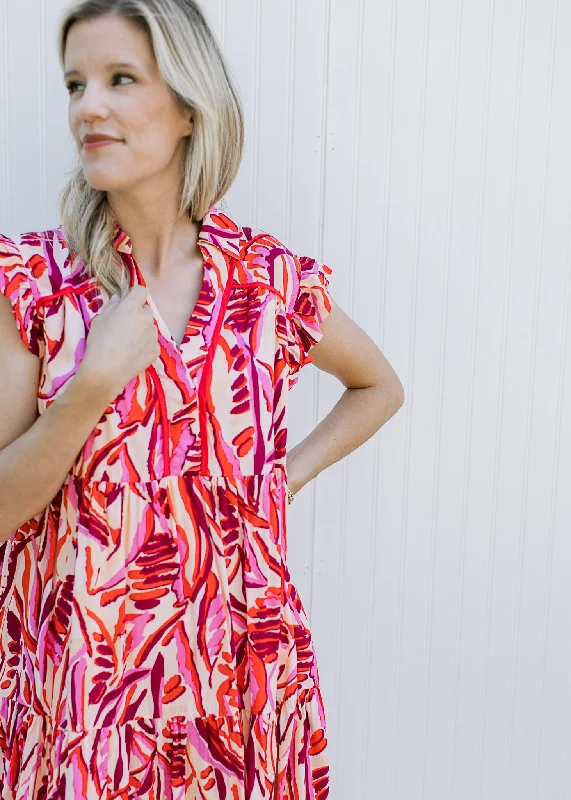
[[[226,194],[244,147],[244,114],[224,55],[196,0],[80,0],[60,21],[62,70],[67,35],[75,22],[116,14],[148,36],[161,75],[175,99],[192,112],[181,171],[179,214],[202,220]],[[116,221],[107,192],[87,183],[77,163],[58,202],[70,255],[79,256],[109,296],[123,296],[129,276],[113,247]]]

